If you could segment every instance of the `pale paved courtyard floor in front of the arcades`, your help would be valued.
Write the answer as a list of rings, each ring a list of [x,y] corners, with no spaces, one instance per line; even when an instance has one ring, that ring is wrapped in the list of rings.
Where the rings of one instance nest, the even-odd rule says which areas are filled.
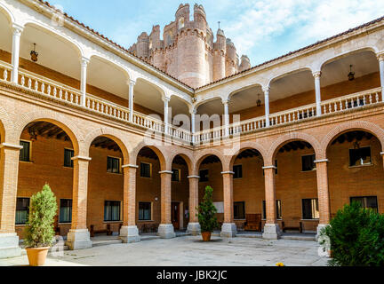
[[[111,244],[48,255],[47,266],[324,266],[316,241],[265,241],[256,238],[201,241],[201,236],[156,239],[132,244]],[[0,259],[0,266],[28,265],[28,257]]]

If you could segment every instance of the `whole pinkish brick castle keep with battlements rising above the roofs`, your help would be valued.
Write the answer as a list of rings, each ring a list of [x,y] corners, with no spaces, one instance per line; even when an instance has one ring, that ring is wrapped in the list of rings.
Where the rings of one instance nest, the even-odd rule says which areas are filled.
[[[156,25],[149,36],[141,33],[129,50],[193,88],[251,67],[247,56],[238,59],[224,30],[219,28],[214,36],[203,5],[194,5],[192,20],[190,12],[189,4],[180,4],[174,21],[164,27],[163,39]]]

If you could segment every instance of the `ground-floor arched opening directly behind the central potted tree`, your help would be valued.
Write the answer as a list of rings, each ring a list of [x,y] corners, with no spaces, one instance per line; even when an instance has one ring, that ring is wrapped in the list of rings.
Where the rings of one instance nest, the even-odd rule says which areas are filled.
[[[217,217],[219,227],[216,230],[221,230],[221,225],[224,222],[224,189],[223,177],[221,175],[222,163],[220,158],[214,154],[207,154],[197,162],[199,179],[199,201],[203,201],[205,187],[212,186],[212,199],[216,209],[218,209]]]

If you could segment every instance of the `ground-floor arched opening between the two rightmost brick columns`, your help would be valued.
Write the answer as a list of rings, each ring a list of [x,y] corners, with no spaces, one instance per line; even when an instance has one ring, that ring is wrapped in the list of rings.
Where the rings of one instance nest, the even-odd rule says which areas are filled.
[[[320,215],[313,146],[300,139],[287,141],[273,161],[277,223],[284,233],[316,233]]]

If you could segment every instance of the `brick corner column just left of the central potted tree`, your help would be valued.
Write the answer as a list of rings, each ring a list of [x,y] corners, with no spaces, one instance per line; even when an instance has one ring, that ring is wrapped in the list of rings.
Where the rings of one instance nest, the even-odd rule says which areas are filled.
[[[196,236],[201,233],[200,224],[198,223],[197,207],[198,207],[198,176],[189,176],[189,224],[187,232]]]

